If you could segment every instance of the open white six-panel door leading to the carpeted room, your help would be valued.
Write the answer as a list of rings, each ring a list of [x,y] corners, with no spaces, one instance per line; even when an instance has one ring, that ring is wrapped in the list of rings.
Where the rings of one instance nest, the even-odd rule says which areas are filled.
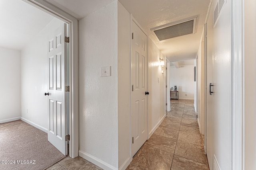
[[[68,154],[65,141],[67,116],[65,105],[66,84],[66,24],[48,37],[48,141],[64,155]]]

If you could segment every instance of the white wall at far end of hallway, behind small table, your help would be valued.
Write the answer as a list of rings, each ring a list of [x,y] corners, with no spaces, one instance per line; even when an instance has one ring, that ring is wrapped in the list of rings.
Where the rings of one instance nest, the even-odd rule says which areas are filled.
[[[170,67],[170,88],[174,89],[174,86],[177,86],[179,91],[179,99],[194,100],[194,65],[180,65],[180,68]]]

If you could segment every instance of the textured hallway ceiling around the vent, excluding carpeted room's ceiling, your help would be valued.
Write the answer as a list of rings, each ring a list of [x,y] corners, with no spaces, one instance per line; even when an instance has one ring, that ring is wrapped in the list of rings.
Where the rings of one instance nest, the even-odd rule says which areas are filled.
[[[78,19],[116,0],[47,0]],[[169,61],[196,59],[210,0],[119,0]],[[83,6],[84,8],[80,8]],[[159,41],[151,28],[197,16],[192,35]]]

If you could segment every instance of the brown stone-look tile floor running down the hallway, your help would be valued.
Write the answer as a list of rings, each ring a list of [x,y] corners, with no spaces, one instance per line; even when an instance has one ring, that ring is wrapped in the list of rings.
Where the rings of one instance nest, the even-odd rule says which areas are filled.
[[[126,170],[208,170],[194,100],[171,100],[171,111]]]

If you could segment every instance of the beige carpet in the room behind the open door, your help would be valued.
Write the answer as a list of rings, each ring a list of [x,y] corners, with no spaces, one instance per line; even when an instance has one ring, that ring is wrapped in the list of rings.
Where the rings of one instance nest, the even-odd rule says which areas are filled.
[[[17,120],[0,124],[0,170],[44,170],[65,157],[48,142],[47,133],[28,123]],[[2,164],[4,160],[15,164]],[[17,160],[26,164],[17,164]]]

